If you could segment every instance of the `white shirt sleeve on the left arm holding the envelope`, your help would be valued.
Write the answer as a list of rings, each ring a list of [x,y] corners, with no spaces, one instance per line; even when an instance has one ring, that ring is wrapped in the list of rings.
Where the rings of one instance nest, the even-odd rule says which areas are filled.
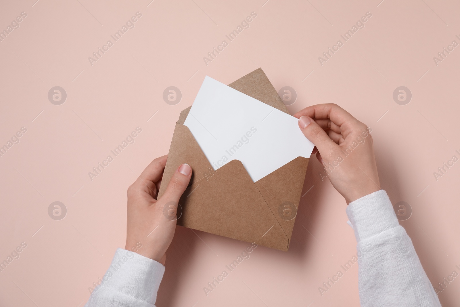
[[[85,307],[155,307],[164,272],[165,267],[155,260],[117,249]]]

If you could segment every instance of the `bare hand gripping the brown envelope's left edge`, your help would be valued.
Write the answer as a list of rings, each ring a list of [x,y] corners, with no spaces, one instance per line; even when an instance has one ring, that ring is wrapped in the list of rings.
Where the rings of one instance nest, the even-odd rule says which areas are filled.
[[[176,229],[178,202],[192,175],[190,166],[182,164],[157,200],[166,159],[167,156],[162,156],[153,160],[128,188],[125,247],[163,265]]]

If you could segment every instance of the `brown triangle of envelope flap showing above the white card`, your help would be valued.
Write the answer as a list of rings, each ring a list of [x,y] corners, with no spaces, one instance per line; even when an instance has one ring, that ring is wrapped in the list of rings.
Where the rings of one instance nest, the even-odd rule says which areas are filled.
[[[265,104],[271,105],[272,107],[289,114],[288,108],[286,108],[286,105],[276,92],[275,87],[271,85],[270,80],[268,80],[267,75],[265,75],[261,68],[250,72],[235,82],[230,83],[229,87],[233,87],[241,93],[245,93],[252,98],[256,98]]]

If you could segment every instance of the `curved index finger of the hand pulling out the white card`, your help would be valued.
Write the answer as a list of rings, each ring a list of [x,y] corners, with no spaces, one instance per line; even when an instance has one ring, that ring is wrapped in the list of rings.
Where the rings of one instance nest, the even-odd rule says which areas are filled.
[[[355,117],[350,113],[339,107],[337,104],[316,104],[309,107],[306,107],[303,110],[300,110],[295,117],[300,118],[300,116],[309,116],[313,119],[330,119],[331,122],[341,127],[341,132],[344,137],[346,134],[351,131],[353,127],[357,124],[360,124]],[[345,127],[342,128],[342,125],[345,124]]]

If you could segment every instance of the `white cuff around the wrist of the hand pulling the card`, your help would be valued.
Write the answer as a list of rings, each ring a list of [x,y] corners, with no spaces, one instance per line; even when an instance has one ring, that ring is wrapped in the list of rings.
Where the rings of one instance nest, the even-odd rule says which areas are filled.
[[[351,202],[346,214],[355,230],[357,242],[399,226],[390,198],[384,190]]]

